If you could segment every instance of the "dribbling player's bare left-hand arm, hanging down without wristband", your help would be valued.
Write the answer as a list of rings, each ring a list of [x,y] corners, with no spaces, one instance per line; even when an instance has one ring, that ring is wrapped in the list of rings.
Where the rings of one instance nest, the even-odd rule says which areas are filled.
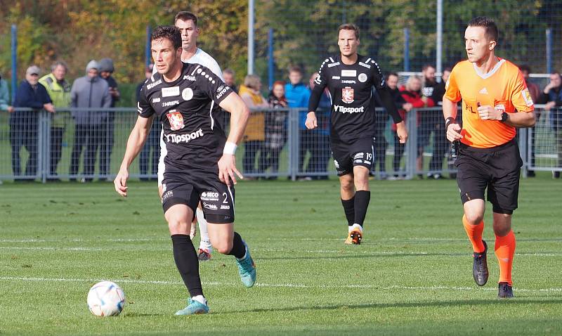
[[[115,191],[123,197],[127,196],[127,179],[129,179],[129,166],[131,162],[135,160],[138,153],[141,153],[143,146],[145,145],[146,138],[148,138],[148,133],[152,127],[152,119],[154,116],[145,118],[138,117],[136,119],[135,127],[129,135],[129,140],[127,140],[127,147],[125,150],[125,155],[123,161],[121,162],[121,167],[119,168],[119,173],[115,177],[113,184],[115,185]]]

